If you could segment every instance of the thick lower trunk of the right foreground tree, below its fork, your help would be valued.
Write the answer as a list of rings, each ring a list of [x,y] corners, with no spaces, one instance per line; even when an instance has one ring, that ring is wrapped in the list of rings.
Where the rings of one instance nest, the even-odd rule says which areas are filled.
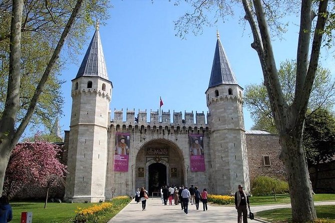
[[[302,133],[280,135],[282,147],[280,158],[284,162],[288,177],[292,222],[308,222],[316,219],[308,169],[301,146],[301,135]]]

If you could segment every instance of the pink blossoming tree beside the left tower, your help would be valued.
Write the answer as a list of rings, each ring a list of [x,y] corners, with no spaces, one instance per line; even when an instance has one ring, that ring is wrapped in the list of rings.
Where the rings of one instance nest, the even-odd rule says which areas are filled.
[[[32,184],[46,187],[48,199],[49,187],[60,184],[66,173],[60,151],[59,145],[46,141],[18,143],[6,169],[4,192],[13,196]]]

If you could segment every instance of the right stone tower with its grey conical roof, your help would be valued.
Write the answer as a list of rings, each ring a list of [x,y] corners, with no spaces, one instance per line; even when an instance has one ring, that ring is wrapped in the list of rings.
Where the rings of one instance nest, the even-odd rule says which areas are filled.
[[[219,33],[206,101],[211,129],[211,183],[215,192],[227,193],[243,184],[250,189],[242,110],[242,91],[222,47]]]

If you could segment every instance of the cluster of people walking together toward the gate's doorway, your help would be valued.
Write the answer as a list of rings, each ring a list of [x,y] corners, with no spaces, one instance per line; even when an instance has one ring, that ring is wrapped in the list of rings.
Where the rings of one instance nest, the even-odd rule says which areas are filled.
[[[204,188],[201,192],[198,190],[197,186],[191,185],[190,188],[187,186],[162,186],[161,188],[161,198],[162,203],[167,205],[167,201],[169,200],[169,204],[172,205],[172,200],[174,200],[174,204],[178,205],[180,203],[181,209],[184,212],[188,213],[188,204],[195,204],[196,209],[199,209],[199,202],[201,201],[203,204],[203,210],[207,210],[207,189]]]

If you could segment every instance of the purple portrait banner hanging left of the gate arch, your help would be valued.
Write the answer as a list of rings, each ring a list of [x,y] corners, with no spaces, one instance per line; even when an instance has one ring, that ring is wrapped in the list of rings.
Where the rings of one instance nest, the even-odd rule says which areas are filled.
[[[114,171],[127,172],[130,150],[130,133],[115,133]]]

